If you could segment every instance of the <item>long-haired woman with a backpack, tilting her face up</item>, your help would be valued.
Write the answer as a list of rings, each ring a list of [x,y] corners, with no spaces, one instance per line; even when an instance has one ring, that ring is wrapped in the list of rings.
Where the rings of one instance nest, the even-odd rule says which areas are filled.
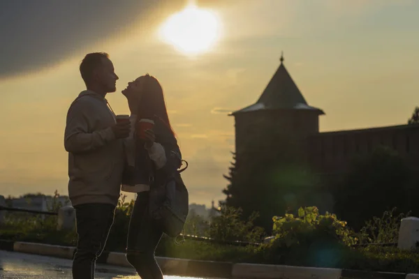
[[[134,135],[135,171],[137,176],[142,176],[139,178],[142,179],[140,184],[134,183],[122,188],[137,193],[129,223],[126,258],[142,279],[162,279],[163,274],[154,251],[163,232],[149,214],[149,188],[164,183],[169,176],[175,174],[182,163],[181,154],[170,126],[159,81],[147,74],[129,82],[122,93],[128,99],[131,114],[137,116]],[[138,130],[140,119],[154,121],[154,128],[142,133],[145,136],[142,138]]]

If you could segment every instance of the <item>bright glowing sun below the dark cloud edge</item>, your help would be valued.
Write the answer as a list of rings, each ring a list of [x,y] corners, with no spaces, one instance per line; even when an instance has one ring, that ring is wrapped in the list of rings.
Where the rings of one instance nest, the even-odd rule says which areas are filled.
[[[220,37],[220,21],[212,10],[191,4],[170,16],[161,26],[161,39],[185,54],[201,54]]]

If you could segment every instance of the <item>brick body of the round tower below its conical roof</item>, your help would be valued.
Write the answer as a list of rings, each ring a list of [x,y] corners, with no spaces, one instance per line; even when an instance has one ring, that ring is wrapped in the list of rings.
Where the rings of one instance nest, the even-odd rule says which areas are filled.
[[[275,154],[295,153],[306,160],[307,137],[318,133],[318,113],[311,110],[263,110],[235,115],[237,163]]]

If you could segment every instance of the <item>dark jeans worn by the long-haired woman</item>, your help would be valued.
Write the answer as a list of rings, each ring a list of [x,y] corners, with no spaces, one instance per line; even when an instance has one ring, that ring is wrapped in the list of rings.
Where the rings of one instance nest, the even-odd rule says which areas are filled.
[[[149,192],[138,193],[129,221],[126,259],[142,279],[163,279],[154,251],[163,232],[148,212]]]

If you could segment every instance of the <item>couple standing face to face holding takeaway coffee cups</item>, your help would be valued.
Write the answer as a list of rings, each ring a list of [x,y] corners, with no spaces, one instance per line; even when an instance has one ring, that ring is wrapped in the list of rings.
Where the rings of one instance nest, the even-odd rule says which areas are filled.
[[[116,121],[105,99],[119,77],[108,54],[87,54],[80,64],[87,90],[68,109],[64,146],[68,151],[68,196],[75,208],[78,233],[73,278],[94,278],[95,262],[108,239],[122,190],[137,193],[128,229],[126,257],[142,279],[163,278],[154,257],[162,230],[147,213],[149,185],[181,165],[179,146],[170,126],[161,85],[143,75],[122,91],[129,121]],[[154,128],[138,140],[138,121],[154,119]],[[138,154],[145,154],[145,156]],[[175,154],[175,156],[173,156]],[[142,168],[144,183],[122,183],[127,165]],[[164,169],[164,171],[162,171]]]

